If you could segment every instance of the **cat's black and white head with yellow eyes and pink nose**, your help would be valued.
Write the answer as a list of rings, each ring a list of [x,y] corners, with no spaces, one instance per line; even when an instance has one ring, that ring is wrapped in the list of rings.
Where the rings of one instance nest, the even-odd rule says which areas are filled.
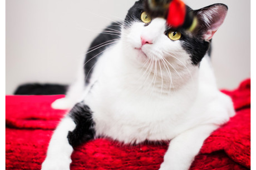
[[[225,4],[213,4],[195,11],[189,8],[198,19],[198,26],[191,33],[168,27],[164,18],[151,18],[145,13],[144,3],[144,0],[137,1],[129,9],[122,29],[124,50],[139,61],[165,58],[171,63],[199,66],[228,11]]]

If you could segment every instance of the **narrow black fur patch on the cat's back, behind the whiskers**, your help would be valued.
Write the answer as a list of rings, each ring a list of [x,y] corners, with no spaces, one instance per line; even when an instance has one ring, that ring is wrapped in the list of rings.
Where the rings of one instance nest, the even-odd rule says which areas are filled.
[[[92,41],[89,49],[87,50],[87,52],[89,53],[86,54],[85,62],[84,62],[85,65],[83,66],[83,69],[85,71],[86,84],[90,82],[91,73],[93,71],[92,69],[93,69],[93,66],[96,64],[97,59],[101,56],[102,53],[104,53],[103,51],[107,49],[107,47],[111,46],[111,44],[115,44],[115,43],[111,43],[111,42],[114,42],[111,40],[120,38],[120,33],[115,33],[115,30],[117,32],[121,32],[120,24],[122,23],[121,22],[111,23],[110,26],[104,29],[104,31],[106,31],[105,33],[99,34],[99,36],[97,36]],[[107,43],[111,43],[111,44],[107,44]]]

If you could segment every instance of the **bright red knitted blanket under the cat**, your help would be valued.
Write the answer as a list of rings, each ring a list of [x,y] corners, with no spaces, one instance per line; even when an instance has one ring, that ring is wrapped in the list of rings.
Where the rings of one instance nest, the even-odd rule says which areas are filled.
[[[237,114],[205,140],[190,169],[250,168],[250,79],[223,92],[232,97]],[[67,112],[50,104],[62,97],[6,97],[6,169],[41,168],[53,129]],[[167,148],[96,139],[75,148],[71,169],[158,169]]]

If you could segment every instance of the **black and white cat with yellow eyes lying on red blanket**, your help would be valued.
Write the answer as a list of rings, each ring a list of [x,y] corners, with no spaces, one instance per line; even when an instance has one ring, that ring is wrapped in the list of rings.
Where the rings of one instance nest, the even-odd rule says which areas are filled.
[[[160,169],[189,169],[204,140],[235,114],[208,54],[227,11],[224,4],[193,11],[199,25],[191,33],[151,18],[137,1],[124,22],[92,42],[84,72],[52,104],[72,109],[53,133],[42,169],[70,169],[73,147],[97,137],[168,140]]]

